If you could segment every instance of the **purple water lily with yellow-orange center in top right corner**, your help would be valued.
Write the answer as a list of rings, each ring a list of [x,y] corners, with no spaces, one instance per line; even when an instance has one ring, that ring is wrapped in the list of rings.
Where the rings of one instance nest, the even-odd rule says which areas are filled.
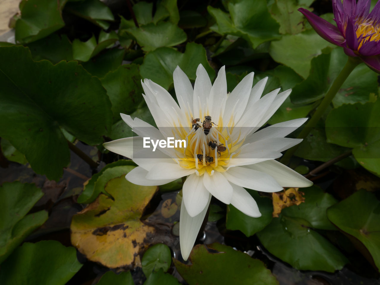
[[[350,57],[360,57],[369,68],[380,73],[380,1],[369,13],[370,0],[332,0],[337,27],[299,8],[314,30],[332,44],[343,47]]]

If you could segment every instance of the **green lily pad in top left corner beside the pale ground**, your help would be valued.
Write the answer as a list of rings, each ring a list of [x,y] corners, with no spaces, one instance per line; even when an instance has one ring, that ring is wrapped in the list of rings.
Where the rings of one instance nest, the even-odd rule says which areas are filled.
[[[21,17],[17,19],[15,38],[18,43],[42,39],[65,25],[62,9],[67,0],[22,0]]]

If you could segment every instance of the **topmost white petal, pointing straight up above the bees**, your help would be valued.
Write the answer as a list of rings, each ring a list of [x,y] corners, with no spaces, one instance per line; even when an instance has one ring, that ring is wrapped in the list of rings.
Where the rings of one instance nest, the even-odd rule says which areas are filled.
[[[199,111],[202,110],[202,112],[206,112],[206,100],[210,95],[211,88],[212,85],[210,77],[203,65],[199,64],[196,69],[196,79],[193,93],[194,119],[200,118],[201,121],[203,121],[203,118],[201,118],[203,114]]]

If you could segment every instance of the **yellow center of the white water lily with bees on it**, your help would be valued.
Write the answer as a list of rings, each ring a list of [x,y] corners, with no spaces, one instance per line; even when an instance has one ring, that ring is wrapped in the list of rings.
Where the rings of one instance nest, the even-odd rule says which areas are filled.
[[[228,126],[223,127],[222,117],[210,123],[211,128],[200,119],[195,126],[189,118],[189,126],[175,128],[176,139],[180,137],[186,141],[186,148],[176,148],[177,159],[181,167],[196,168],[196,173],[203,175],[206,171],[212,175],[212,171],[225,172],[231,157],[239,154],[239,148],[244,142],[240,137],[234,141],[231,137],[233,120]],[[214,121],[214,118],[212,118]]]

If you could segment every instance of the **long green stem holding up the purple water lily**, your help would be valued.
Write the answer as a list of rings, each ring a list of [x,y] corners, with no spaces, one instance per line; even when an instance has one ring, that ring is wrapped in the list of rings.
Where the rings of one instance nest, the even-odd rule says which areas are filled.
[[[297,139],[306,138],[309,132],[312,130],[312,128],[314,128],[317,125],[319,119],[325,113],[326,108],[330,105],[332,99],[334,99],[336,93],[339,91],[339,88],[343,85],[347,77],[350,75],[353,69],[360,62],[361,61],[358,60],[358,58],[348,57],[346,65],[344,66],[342,71],[340,71],[339,75],[336,77],[336,79],[332,83],[330,89],[327,91],[325,95],[325,98],[323,98],[323,100],[321,101],[321,104],[317,107],[317,110],[315,110],[314,114],[312,115],[310,120],[307,122],[305,128],[303,128],[302,131],[299,133],[299,135],[297,136]],[[299,144],[288,149],[287,152],[282,157],[282,159],[280,160],[280,162],[287,165],[290,161],[291,156],[296,152],[298,146]]]

